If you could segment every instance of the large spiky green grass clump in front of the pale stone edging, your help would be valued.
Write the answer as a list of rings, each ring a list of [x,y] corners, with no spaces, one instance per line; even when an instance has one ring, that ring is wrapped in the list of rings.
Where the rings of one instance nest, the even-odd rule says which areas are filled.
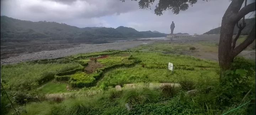
[[[158,92],[148,88],[143,89],[128,89],[124,91],[121,102],[123,104],[145,104],[158,101]]]

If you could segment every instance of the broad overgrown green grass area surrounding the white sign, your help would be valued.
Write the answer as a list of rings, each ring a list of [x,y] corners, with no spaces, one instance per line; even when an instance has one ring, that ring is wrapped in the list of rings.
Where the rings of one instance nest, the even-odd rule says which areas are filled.
[[[145,67],[137,65],[132,68],[120,68],[107,72],[102,81],[107,86],[118,84],[156,82],[156,83],[177,83],[187,78],[197,81],[201,76],[218,78],[218,63],[203,61],[190,56],[165,55],[161,53],[132,53],[139,57]],[[167,63],[174,64],[174,72],[167,71]],[[193,68],[193,69],[188,69]]]

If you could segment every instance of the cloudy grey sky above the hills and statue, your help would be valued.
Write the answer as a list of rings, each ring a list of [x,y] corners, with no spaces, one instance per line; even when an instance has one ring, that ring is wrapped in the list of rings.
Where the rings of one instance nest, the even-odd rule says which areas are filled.
[[[138,0],[139,1],[139,0]],[[132,27],[137,31],[159,31],[169,34],[172,21],[174,33],[203,34],[221,24],[229,0],[198,0],[178,15],[170,10],[162,16],[154,14],[158,0],[151,9],[139,9],[138,1],[126,0],[1,0],[1,16],[20,20],[66,23],[76,27]],[[255,0],[248,0],[250,4]],[[249,13],[248,18],[254,16]]]

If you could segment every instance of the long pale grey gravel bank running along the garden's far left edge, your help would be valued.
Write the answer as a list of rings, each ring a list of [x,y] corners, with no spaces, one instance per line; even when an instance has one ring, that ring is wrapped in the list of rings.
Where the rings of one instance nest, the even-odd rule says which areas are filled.
[[[127,42],[114,42],[105,44],[92,44],[92,45],[80,45],[75,48],[58,49],[52,51],[41,51],[37,53],[20,54],[18,56],[1,59],[1,65],[15,64],[23,61],[39,60],[39,59],[52,59],[58,57],[69,56],[78,53],[89,53],[94,51],[104,51],[107,49],[126,50],[133,48],[143,43],[153,43],[155,40],[149,41],[127,41]]]

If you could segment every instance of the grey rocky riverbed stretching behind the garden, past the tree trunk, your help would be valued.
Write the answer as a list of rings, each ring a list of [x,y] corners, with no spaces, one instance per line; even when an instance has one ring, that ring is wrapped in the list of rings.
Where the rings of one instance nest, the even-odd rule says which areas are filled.
[[[91,45],[78,45],[78,44],[57,44],[57,45],[44,45],[37,49],[28,48],[26,52],[20,53],[16,50],[1,49],[1,56],[4,53],[9,54],[5,58],[1,58],[1,65],[15,64],[23,61],[38,60],[38,59],[52,59],[57,57],[63,57],[68,55],[73,55],[77,53],[88,53],[94,51],[103,51],[107,49],[117,49],[126,50],[128,48],[133,48],[144,43],[154,43],[154,42],[172,42],[172,43],[191,43],[197,42],[199,40],[204,40],[208,42],[219,42],[219,35],[198,35],[196,37],[191,37],[188,39],[173,39],[173,40],[131,40],[126,42],[114,42],[105,44],[91,44]],[[31,50],[31,51],[30,51]],[[42,51],[44,50],[44,51]],[[40,51],[35,52],[34,51]],[[249,59],[255,60],[255,50],[252,51],[242,51],[239,55],[245,56]],[[9,57],[10,56],[10,57]],[[199,58],[212,59],[217,61],[218,54],[205,53]]]

